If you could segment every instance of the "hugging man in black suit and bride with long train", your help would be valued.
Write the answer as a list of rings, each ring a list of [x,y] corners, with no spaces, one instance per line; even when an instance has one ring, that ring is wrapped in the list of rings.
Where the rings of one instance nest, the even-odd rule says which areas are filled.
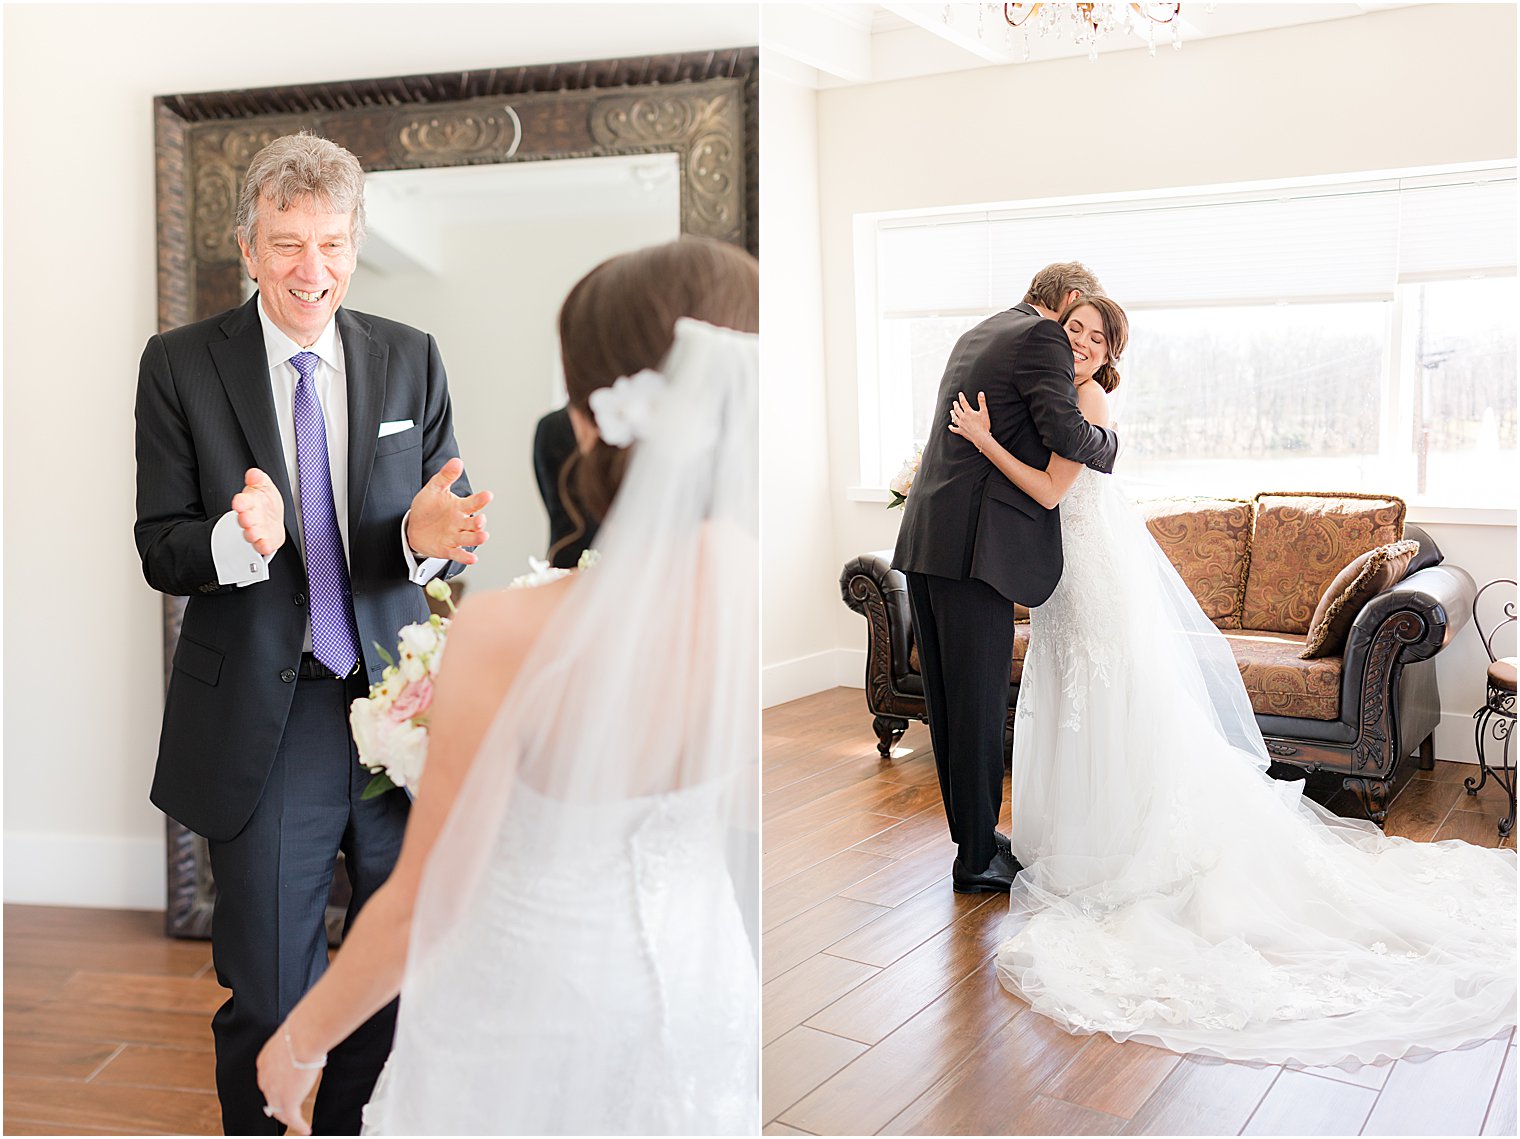
[[[1128,336],[1075,262],[967,332],[892,558],[953,887],[1011,894],[1003,985],[1072,1033],[1274,1064],[1506,1031],[1514,852],[1388,838],[1268,776],[1228,643],[1111,476]]]

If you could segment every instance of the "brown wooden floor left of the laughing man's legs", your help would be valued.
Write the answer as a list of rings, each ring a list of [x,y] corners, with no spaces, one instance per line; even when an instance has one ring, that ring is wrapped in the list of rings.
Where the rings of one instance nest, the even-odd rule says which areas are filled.
[[[161,912],[5,906],[6,1134],[222,1133],[226,990],[210,941],[163,931]]]

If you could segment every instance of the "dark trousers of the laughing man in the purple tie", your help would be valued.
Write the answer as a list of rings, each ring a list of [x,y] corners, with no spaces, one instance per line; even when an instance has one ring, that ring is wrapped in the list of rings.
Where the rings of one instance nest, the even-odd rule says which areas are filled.
[[[210,844],[211,960],[217,981],[233,990],[211,1019],[226,1134],[284,1131],[263,1113],[258,1049],[327,969],[324,912],[337,852],[353,885],[353,923],[395,865],[410,806],[401,791],[360,800],[369,773],[348,733],[348,704],[365,695],[363,678],[295,684],[258,807],[237,838]],[[359,1134],[394,1031],[395,1002],[331,1051],[312,1113],[318,1134]]]

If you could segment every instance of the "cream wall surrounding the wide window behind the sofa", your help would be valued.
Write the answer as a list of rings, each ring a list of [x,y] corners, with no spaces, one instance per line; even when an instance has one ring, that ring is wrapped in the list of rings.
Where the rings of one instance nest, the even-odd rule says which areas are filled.
[[[834,519],[830,584],[854,555],[891,547],[900,517],[847,499],[860,477],[854,214],[1514,157],[1511,5],[1404,8],[1189,43],[1155,59],[1129,50],[1096,64],[1059,59],[819,91],[830,465],[816,494]],[[1479,582],[1515,576],[1512,525],[1430,531]],[[768,549],[768,575],[771,566]],[[838,674],[859,675],[865,623],[842,604],[833,637]],[[1462,639],[1441,663],[1449,716],[1438,751],[1452,759],[1470,756],[1465,719],[1482,700],[1482,652],[1470,631]]]

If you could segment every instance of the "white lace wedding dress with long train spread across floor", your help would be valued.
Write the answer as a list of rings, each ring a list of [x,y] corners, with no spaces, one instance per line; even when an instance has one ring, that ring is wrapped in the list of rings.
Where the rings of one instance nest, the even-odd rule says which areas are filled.
[[[1515,856],[1388,838],[1269,779],[1228,645],[1119,484],[1061,505],[1031,614],[1006,988],[1073,1033],[1371,1063],[1515,1023]]]

